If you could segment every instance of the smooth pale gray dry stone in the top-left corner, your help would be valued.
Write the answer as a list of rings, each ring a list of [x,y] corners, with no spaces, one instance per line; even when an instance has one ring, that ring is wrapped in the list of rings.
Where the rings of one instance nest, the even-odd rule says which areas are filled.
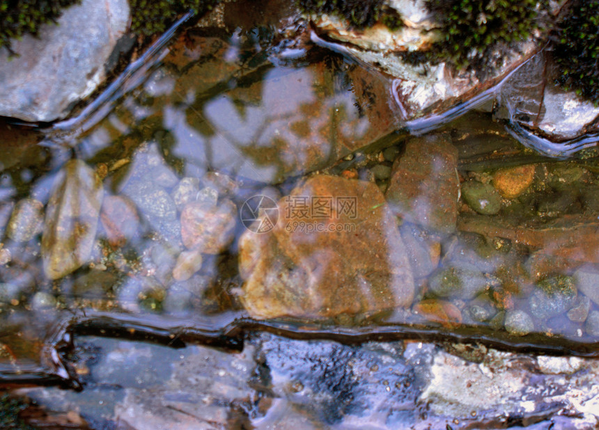
[[[104,81],[106,63],[130,20],[127,0],[83,0],[64,10],[58,26],[0,50],[0,116],[53,121]]]

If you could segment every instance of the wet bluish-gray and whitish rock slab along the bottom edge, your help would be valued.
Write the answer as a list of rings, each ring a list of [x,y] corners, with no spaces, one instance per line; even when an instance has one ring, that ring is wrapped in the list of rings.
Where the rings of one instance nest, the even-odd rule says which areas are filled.
[[[593,429],[596,360],[480,345],[252,337],[240,353],[81,337],[82,392],[20,390],[92,428]],[[571,401],[570,401],[571,400]]]

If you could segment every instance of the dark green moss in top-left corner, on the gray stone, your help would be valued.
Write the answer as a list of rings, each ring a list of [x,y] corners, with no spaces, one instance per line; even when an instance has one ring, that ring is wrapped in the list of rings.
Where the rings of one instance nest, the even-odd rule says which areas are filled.
[[[0,47],[10,51],[10,39],[29,33],[37,35],[40,26],[56,22],[61,10],[81,0],[0,0]]]

